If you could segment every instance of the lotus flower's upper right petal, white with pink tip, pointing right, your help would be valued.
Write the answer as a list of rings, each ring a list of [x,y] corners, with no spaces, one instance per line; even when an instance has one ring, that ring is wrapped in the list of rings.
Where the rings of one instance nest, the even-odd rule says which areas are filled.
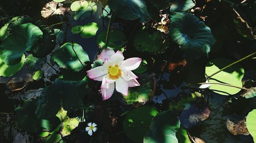
[[[121,63],[121,66],[126,70],[135,70],[140,66],[141,58],[129,58]]]

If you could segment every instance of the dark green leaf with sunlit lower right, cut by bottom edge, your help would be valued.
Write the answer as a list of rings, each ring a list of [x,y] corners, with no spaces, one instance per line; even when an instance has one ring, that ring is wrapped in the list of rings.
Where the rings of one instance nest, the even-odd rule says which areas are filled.
[[[176,132],[179,128],[180,121],[172,111],[159,112],[151,123],[151,130],[144,136],[144,143],[178,143]]]

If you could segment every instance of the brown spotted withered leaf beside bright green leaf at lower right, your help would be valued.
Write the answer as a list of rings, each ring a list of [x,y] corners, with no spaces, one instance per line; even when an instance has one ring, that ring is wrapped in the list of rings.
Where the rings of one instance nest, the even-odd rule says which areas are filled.
[[[243,120],[230,120],[227,119],[226,122],[227,129],[230,133],[233,135],[243,134],[243,135],[249,135],[249,132],[246,128],[245,119]]]

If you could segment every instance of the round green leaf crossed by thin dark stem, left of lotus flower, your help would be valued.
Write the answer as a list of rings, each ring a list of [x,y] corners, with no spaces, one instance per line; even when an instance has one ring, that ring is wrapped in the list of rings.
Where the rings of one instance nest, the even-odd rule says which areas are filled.
[[[90,61],[89,56],[79,44],[74,43],[73,48],[72,43],[65,43],[59,49],[53,52],[52,58],[53,61],[56,62],[61,68],[80,71],[83,69],[82,64],[84,64],[84,62]],[[82,63],[80,63],[79,60]]]

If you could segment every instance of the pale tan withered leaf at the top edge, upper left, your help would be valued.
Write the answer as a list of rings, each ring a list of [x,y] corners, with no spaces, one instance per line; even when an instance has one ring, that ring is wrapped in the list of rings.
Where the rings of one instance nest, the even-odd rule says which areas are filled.
[[[62,4],[51,1],[47,3],[41,10],[41,16],[49,18],[53,15],[65,15],[65,12],[70,11],[69,8],[63,8]]]

